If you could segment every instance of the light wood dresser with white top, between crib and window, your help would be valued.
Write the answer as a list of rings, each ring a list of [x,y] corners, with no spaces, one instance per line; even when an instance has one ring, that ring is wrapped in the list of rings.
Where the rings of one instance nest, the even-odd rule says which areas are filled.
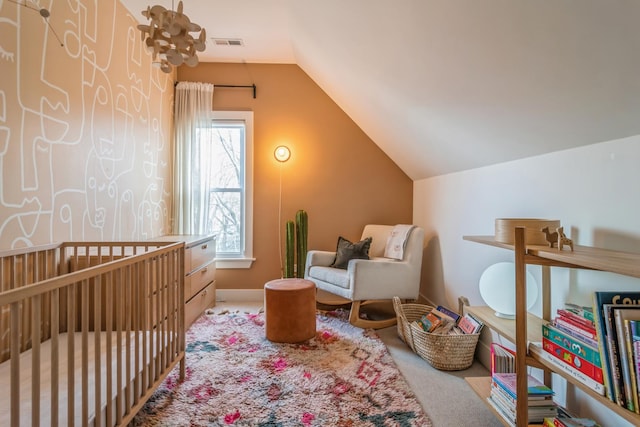
[[[185,328],[216,303],[216,241],[214,235],[170,234],[151,239],[184,242]]]

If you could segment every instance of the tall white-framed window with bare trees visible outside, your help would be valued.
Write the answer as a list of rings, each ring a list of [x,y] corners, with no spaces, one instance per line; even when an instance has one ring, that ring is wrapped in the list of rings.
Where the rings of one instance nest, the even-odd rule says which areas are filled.
[[[214,111],[199,129],[200,168],[209,174],[207,228],[216,235],[218,268],[249,268],[253,261],[253,113]]]

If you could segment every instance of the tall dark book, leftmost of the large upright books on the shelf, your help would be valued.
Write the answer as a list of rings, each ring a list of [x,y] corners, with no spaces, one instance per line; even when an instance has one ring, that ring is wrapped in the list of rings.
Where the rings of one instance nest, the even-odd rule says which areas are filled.
[[[611,358],[608,347],[608,336],[606,332],[605,324],[605,304],[622,304],[622,303],[635,303],[640,299],[640,292],[634,291],[596,291],[593,293],[592,305],[593,305],[593,318],[596,326],[598,350],[602,358],[602,371],[604,376],[604,384],[607,397],[617,402],[616,391],[614,389],[614,378],[611,369]]]

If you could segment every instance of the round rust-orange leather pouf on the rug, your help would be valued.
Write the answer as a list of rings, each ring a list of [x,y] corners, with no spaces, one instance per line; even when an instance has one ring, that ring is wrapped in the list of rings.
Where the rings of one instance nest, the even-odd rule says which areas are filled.
[[[297,343],[316,335],[316,285],[276,279],[264,285],[265,330],[273,342]]]

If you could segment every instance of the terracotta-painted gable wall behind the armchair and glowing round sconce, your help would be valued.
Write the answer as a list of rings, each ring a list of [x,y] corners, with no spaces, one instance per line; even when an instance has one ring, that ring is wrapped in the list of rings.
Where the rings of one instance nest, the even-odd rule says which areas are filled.
[[[367,223],[411,223],[412,181],[297,65],[203,63],[181,67],[178,80],[257,86],[256,99],[250,89],[213,94],[215,110],[252,110],[255,127],[256,261],[250,270],[219,270],[219,288],[261,288],[281,277],[278,233],[298,209],[309,215],[310,249],[334,250],[339,235],[359,240]],[[273,157],[280,144],[292,152],[282,166]]]

